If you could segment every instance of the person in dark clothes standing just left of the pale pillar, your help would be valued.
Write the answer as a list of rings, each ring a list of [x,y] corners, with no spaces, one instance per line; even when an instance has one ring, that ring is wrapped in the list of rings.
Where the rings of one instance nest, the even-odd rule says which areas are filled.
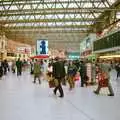
[[[80,77],[81,77],[81,87],[84,87],[84,84],[87,86],[87,73],[86,73],[86,65],[83,61],[80,63]]]

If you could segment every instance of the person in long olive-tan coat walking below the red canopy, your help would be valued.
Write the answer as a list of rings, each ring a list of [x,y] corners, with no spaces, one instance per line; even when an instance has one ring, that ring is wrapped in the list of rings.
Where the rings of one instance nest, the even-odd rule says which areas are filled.
[[[34,63],[34,81],[33,81],[33,83],[36,83],[36,79],[38,78],[39,84],[41,84],[40,75],[41,75],[40,62],[36,59],[35,63]]]

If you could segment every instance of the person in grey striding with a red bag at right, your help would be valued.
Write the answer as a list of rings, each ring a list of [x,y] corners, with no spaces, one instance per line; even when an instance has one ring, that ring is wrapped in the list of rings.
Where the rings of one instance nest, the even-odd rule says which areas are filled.
[[[105,70],[104,68],[99,67],[98,88],[94,91],[94,93],[99,94],[101,88],[108,87],[109,92],[110,92],[110,94],[108,94],[108,96],[114,96],[112,86],[109,82],[109,79],[110,79],[109,73],[104,70]]]

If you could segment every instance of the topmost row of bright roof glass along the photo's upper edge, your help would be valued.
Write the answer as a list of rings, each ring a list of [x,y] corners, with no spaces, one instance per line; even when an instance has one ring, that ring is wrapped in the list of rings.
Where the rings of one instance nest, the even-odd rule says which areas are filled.
[[[67,8],[67,6],[68,6],[68,8],[79,8],[79,7],[81,7],[81,8],[82,7],[93,8],[94,6],[98,7],[98,5],[100,3],[101,4],[99,5],[99,8],[100,7],[106,7],[106,6],[108,7],[108,4],[106,2],[104,2],[105,5],[106,5],[105,6],[101,1],[98,2],[99,0],[97,0],[97,2],[95,2],[95,0],[94,0],[93,1],[94,5],[90,1],[87,1],[87,0],[85,0],[86,2],[82,2],[82,1],[80,2],[79,0],[71,0],[70,2],[72,2],[72,3],[69,2],[69,5],[68,5],[68,3],[60,3],[61,1],[68,2],[68,0],[60,0],[60,2],[57,1],[56,4],[51,3],[53,1],[55,2],[55,0],[45,0],[45,1],[47,1],[49,3],[48,4],[47,3],[46,4],[39,4],[38,9],[42,9],[42,8],[44,8],[44,9],[46,9],[46,8]],[[77,3],[77,1],[78,1],[78,3]],[[108,1],[111,4],[111,3],[114,3],[116,0],[108,0]],[[29,2],[30,2],[30,4],[29,4]],[[19,4],[22,4],[22,5],[19,6],[19,8],[24,7],[23,9],[31,9],[31,3],[32,3],[33,8],[35,9],[40,1],[29,1],[29,2],[26,2],[26,1],[15,2],[14,1],[12,3],[13,5],[11,5],[11,7],[10,7],[10,10],[18,10],[18,8],[16,6],[19,6]],[[5,5],[5,8],[8,9],[11,2],[3,2],[3,4]]]

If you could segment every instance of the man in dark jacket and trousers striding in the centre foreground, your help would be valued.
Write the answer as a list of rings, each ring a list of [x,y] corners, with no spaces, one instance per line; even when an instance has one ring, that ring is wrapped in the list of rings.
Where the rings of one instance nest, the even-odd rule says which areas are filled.
[[[55,62],[53,63],[53,77],[57,80],[58,84],[54,89],[54,94],[56,95],[57,90],[59,90],[60,96],[64,97],[64,92],[61,86],[62,79],[65,77],[65,68],[64,64],[60,59],[57,57]]]

